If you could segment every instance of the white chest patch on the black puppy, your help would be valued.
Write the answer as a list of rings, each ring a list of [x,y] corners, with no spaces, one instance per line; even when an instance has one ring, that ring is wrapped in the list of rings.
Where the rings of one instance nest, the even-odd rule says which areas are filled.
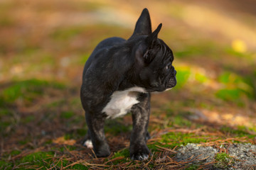
[[[107,118],[117,118],[125,115],[137,101],[139,93],[146,93],[141,87],[132,87],[124,91],[114,91],[110,102],[103,108],[102,112],[107,114]]]

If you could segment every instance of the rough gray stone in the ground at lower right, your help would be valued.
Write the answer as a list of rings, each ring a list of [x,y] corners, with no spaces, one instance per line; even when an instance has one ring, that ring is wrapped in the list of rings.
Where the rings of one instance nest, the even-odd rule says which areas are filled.
[[[256,169],[256,145],[252,144],[232,144],[223,147],[233,162],[228,168],[223,169]],[[203,165],[215,161],[215,154],[219,152],[213,147],[203,147],[198,144],[188,144],[178,149],[174,157],[177,162],[188,162],[193,165]],[[235,168],[233,168],[235,167]],[[206,167],[205,167],[206,168]],[[218,169],[213,164],[208,165],[207,169]]]

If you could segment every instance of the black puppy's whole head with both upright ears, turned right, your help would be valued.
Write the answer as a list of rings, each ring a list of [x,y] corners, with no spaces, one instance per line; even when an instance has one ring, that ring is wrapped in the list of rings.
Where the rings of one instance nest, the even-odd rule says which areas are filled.
[[[133,54],[139,86],[147,91],[165,91],[176,86],[174,55],[166,43],[157,38],[161,23],[152,33],[149,11],[144,8],[130,41],[136,42]],[[128,40],[128,41],[129,41]]]

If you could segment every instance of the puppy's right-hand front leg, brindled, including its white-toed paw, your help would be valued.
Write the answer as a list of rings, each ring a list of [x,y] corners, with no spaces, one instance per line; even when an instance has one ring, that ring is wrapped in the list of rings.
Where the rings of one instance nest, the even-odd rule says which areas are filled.
[[[149,158],[149,148],[146,146],[147,126],[149,124],[150,94],[140,94],[140,101],[132,107],[133,130],[130,140],[130,157],[133,160]]]

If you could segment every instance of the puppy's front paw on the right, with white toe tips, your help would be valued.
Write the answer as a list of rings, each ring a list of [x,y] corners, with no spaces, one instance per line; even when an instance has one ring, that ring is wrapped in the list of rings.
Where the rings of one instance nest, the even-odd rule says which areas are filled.
[[[134,152],[130,153],[130,157],[132,160],[138,160],[138,161],[143,161],[149,158],[149,148],[144,146],[144,147],[139,147],[136,149],[136,147],[134,147],[133,149]]]

